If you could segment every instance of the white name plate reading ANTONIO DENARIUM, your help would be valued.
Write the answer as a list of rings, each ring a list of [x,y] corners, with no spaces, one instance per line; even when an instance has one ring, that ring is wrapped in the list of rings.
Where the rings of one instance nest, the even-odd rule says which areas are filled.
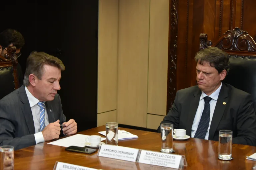
[[[101,145],[98,156],[135,162],[138,152],[139,149],[104,144]]]

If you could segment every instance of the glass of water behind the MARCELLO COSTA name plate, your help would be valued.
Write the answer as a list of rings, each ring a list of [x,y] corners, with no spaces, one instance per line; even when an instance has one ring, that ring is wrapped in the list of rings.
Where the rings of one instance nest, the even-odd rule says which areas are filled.
[[[173,125],[162,124],[161,125],[161,138],[162,138],[162,149],[161,152],[172,153],[173,150]]]

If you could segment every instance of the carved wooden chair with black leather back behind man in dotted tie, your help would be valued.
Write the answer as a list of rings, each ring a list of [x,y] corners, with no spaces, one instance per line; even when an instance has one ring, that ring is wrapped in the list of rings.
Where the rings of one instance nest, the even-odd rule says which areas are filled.
[[[199,49],[216,46],[229,54],[230,71],[223,82],[250,93],[256,102],[256,43],[238,27],[226,31],[216,43],[200,34]]]

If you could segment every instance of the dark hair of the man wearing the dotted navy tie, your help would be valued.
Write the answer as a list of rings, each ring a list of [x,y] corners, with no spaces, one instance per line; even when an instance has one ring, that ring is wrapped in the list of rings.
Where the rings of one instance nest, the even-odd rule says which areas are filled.
[[[229,56],[226,52],[217,47],[205,48],[198,51],[195,56],[196,62],[203,64],[205,61],[210,63],[210,66],[221,73],[223,70],[229,72]]]

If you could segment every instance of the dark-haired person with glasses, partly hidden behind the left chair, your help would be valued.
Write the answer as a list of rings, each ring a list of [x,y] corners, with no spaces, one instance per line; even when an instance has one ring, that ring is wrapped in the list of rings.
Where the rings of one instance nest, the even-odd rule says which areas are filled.
[[[14,29],[6,29],[2,33],[0,33],[0,55],[4,56],[7,53],[8,46],[15,46],[17,48],[16,54],[17,58],[21,56],[21,48],[25,45],[24,37],[20,32]],[[21,70],[21,66],[18,63],[18,78],[19,78],[19,86],[23,85],[23,74]]]

